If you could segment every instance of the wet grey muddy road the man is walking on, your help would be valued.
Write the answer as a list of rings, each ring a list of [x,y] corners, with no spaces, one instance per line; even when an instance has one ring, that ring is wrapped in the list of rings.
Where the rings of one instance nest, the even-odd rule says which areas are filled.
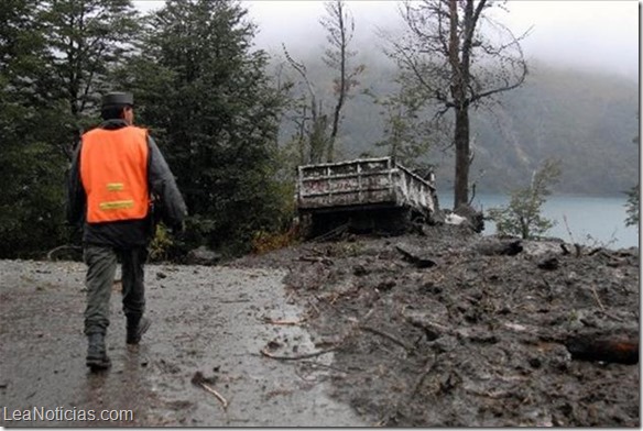
[[[115,284],[107,338],[112,367],[92,374],[85,366],[85,266],[0,261],[0,426],[364,424],[328,396],[330,368],[324,366],[333,362],[333,353],[306,368],[260,353],[314,350],[305,328],[283,324],[299,320],[303,312],[288,299],[284,275],[149,265],[148,316],[153,325],[139,346],[127,346],[120,285]],[[195,373],[224,397],[226,408],[190,383]],[[52,420],[14,420],[33,408],[45,409]],[[111,415],[107,420],[101,420],[103,410]],[[95,421],[81,420],[88,411],[95,412]]]

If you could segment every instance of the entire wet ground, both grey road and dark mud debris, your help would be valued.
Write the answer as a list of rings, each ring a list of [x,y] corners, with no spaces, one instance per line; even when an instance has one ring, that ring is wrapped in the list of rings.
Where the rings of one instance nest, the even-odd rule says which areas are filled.
[[[116,284],[100,374],[85,367],[84,276],[0,261],[0,405],[134,418],[0,426],[640,426],[637,248],[426,226],[149,265],[153,325],[126,346]]]

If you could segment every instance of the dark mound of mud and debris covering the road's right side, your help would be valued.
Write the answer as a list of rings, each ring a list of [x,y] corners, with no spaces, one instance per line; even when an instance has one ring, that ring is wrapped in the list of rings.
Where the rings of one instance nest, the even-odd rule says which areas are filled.
[[[333,265],[297,259],[310,254]],[[640,426],[636,248],[480,236],[465,223],[236,265],[288,269],[309,328],[345,340],[335,396],[369,423]],[[350,332],[355,322],[378,332]]]

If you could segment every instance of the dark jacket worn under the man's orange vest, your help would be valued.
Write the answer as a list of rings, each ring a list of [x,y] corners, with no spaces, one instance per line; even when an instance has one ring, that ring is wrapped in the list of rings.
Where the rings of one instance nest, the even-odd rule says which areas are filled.
[[[118,130],[128,126],[123,120],[108,120],[100,124],[101,129]],[[80,148],[78,145],[69,170],[67,184],[67,222],[84,224],[83,243],[129,247],[146,245],[153,235],[155,218],[160,218],[167,226],[179,225],[187,210],[174,176],[163,158],[156,143],[148,134],[148,185],[154,200],[152,211],[142,220],[123,220],[106,223],[87,223],[87,195],[80,179]]]

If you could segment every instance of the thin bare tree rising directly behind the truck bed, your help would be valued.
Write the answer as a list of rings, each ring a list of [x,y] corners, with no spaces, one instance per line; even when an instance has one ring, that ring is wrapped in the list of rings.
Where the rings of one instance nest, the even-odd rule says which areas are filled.
[[[363,65],[359,65],[351,71],[348,71],[348,60],[356,55],[355,51],[349,51],[348,46],[355,34],[355,20],[349,10],[346,8],[344,0],[335,0],[325,3],[327,16],[322,18],[319,22],[326,29],[329,47],[324,53],[324,63],[328,67],[337,69],[339,76],[335,78],[334,90],[337,95],[337,103],[333,111],[333,129],[328,139],[328,148],[326,161],[333,162],[335,157],[335,141],[339,131],[339,121],[341,109],[346,98],[352,87],[359,82],[357,76],[364,70]]]

